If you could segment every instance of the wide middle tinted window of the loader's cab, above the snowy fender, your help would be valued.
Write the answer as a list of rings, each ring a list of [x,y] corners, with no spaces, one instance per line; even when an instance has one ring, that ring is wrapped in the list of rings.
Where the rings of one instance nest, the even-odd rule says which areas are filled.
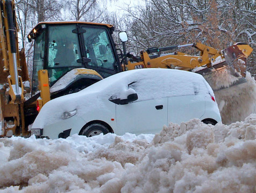
[[[48,28],[48,62],[47,70],[51,85],[65,73],[82,67],[76,61],[81,58],[79,40],[73,33],[76,25],[49,26]]]

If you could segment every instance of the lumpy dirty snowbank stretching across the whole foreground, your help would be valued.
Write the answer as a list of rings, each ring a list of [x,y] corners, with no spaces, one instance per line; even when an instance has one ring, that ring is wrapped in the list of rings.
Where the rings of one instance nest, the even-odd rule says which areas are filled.
[[[256,114],[153,135],[1,138],[0,192],[255,192]]]

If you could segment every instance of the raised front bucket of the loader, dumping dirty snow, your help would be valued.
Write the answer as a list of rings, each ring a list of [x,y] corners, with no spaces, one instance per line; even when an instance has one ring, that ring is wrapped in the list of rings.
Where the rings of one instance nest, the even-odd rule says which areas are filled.
[[[246,83],[246,58],[252,50],[248,44],[236,43],[222,50],[222,60],[197,73],[203,75],[214,91]]]

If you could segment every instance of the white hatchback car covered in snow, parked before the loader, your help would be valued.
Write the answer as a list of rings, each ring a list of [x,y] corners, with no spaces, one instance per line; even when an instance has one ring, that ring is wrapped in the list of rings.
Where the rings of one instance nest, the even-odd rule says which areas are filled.
[[[169,122],[191,118],[222,122],[214,92],[193,72],[138,69],[118,73],[46,103],[31,133],[38,137],[66,138],[75,133],[157,133]]]

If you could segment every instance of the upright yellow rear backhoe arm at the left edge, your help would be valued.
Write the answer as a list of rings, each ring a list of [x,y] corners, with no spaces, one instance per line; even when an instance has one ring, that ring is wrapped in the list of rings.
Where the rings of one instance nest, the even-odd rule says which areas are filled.
[[[24,82],[29,82],[25,54],[18,51],[15,2],[0,4],[0,136],[25,135]]]

